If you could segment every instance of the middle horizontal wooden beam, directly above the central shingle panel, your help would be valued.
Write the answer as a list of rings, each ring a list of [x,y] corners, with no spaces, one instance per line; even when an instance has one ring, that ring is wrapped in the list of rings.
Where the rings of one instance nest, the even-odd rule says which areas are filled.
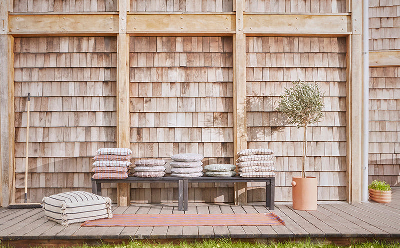
[[[235,32],[231,14],[129,14],[128,33],[229,34]]]

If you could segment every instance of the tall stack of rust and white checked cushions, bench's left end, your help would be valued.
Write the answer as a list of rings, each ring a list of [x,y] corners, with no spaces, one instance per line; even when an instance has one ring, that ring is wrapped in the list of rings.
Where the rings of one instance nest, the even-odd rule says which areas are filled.
[[[100,148],[93,160],[93,179],[123,179],[129,176],[132,150],[128,148]]]

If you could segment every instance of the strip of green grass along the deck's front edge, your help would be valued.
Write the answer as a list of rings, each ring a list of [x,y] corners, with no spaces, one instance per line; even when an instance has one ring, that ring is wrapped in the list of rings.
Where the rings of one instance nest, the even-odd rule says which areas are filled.
[[[75,246],[73,248],[92,248],[93,246],[82,245]],[[0,243],[0,248],[7,248]],[[39,248],[39,247],[36,247]],[[231,241],[230,239],[220,240],[206,240],[203,242],[186,242],[181,241],[178,244],[172,243],[153,243],[143,240],[134,240],[129,243],[120,245],[109,245],[100,244],[95,248],[400,248],[398,242],[385,242],[385,241],[374,241],[374,242],[363,242],[352,244],[349,246],[337,246],[334,244],[318,244],[311,242],[282,242],[282,243],[250,243],[243,241]]]

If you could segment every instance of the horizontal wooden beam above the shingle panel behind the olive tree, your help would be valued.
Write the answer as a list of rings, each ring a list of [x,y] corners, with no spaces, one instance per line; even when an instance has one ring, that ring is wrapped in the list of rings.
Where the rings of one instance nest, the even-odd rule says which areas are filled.
[[[348,14],[245,14],[246,34],[343,36],[351,33]]]

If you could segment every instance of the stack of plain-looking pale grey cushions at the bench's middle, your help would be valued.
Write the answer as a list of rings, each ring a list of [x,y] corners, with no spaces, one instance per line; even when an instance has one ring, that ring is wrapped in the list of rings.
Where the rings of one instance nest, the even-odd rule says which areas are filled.
[[[171,157],[171,176],[172,177],[201,177],[204,175],[203,160],[204,156],[198,153],[180,153]]]

